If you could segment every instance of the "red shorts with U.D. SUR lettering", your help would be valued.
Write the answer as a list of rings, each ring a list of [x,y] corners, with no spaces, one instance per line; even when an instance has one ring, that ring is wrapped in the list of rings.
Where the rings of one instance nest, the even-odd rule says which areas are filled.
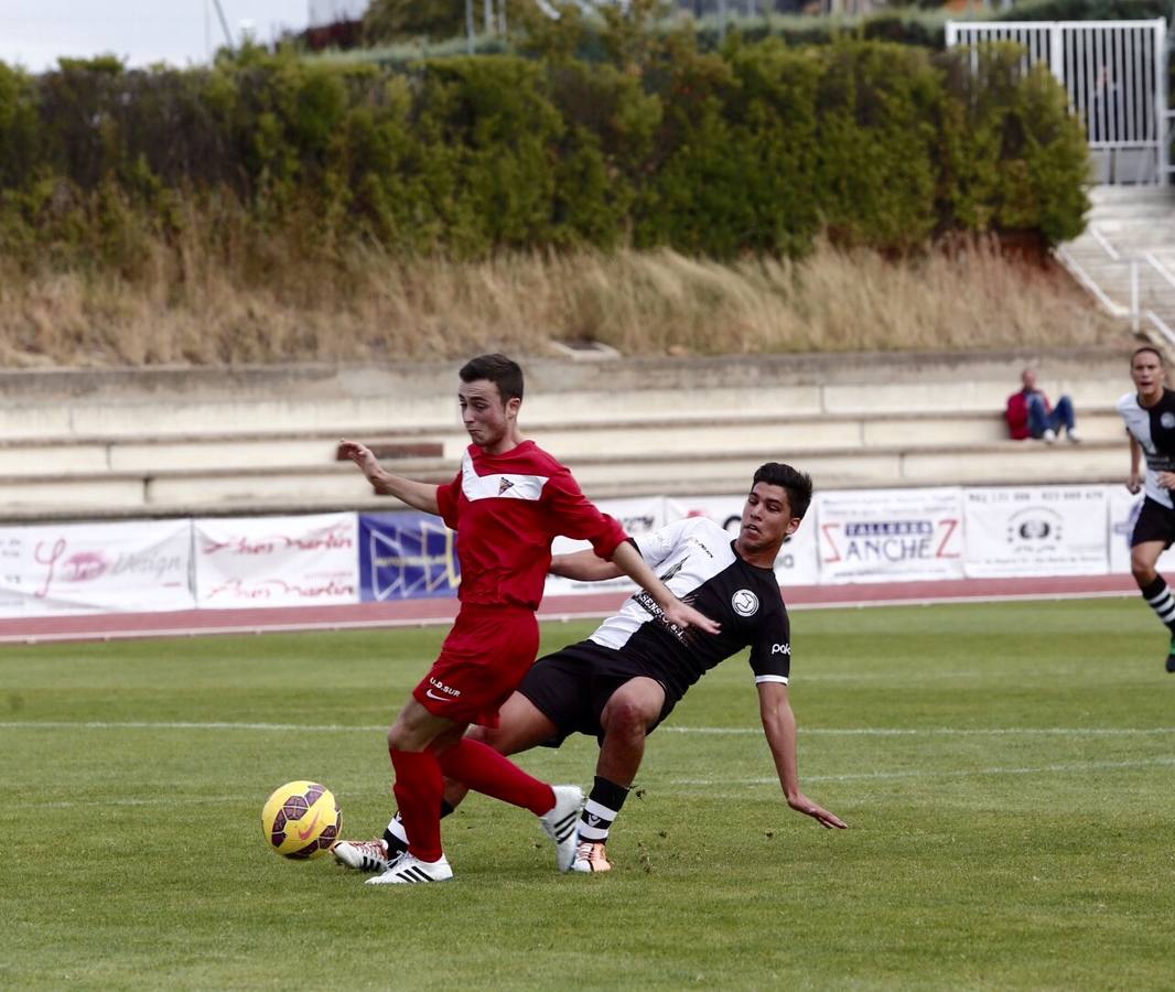
[[[536,653],[533,610],[463,605],[412,697],[454,723],[497,726],[498,709],[530,671]]]

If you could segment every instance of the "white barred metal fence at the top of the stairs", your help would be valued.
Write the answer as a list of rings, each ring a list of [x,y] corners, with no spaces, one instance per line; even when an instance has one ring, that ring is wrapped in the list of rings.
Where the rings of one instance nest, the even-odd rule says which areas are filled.
[[[1094,181],[1164,183],[1171,174],[1167,22],[948,21],[947,47],[1014,41],[1043,63],[1086,126]]]

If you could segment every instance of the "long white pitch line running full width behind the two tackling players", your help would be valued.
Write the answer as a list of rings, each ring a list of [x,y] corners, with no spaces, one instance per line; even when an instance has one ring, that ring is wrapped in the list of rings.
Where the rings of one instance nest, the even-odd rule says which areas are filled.
[[[2,720],[0,730],[247,730],[298,733],[382,733],[384,724],[230,723],[227,720]],[[703,733],[721,737],[761,736],[757,726],[664,726],[662,733]],[[892,728],[814,726],[799,733],[821,737],[1149,737],[1175,733],[1175,726],[993,726]]]

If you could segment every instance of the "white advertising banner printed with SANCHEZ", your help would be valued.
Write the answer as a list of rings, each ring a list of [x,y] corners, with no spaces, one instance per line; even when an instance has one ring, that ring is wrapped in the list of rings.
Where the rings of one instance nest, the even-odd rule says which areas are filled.
[[[828,583],[962,578],[962,490],[861,489],[817,498]]]

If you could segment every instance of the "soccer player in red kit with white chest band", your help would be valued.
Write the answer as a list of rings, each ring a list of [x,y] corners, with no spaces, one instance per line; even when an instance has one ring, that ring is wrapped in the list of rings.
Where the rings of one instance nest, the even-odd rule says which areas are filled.
[[[392,791],[408,851],[368,884],[452,878],[441,846],[445,776],[540,817],[555,842],[559,870],[571,866],[583,805],[579,787],[552,787],[492,748],[463,737],[470,724],[497,725],[498,708],[535,659],[535,610],[556,536],[590,541],[597,555],[645,588],[667,622],[710,634],[718,630],[665,588],[620,525],[584,497],[566,468],[522,438],[517,417],[523,374],[516,362],[504,355],[483,355],[458,375],[462,420],[472,443],[450,484],[389,475],[365,445],[342,442],[343,454],[377,492],[437,514],[456,531],[462,574],[461,610],[452,630],[388,731],[396,775]]]

